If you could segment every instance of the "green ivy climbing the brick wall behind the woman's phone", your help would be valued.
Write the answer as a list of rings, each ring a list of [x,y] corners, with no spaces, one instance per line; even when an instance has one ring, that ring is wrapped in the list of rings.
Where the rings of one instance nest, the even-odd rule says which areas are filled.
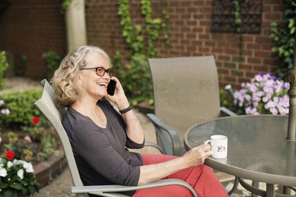
[[[147,99],[152,103],[152,79],[148,66],[148,58],[156,56],[157,40],[161,30],[163,30],[164,38],[166,39],[165,43],[169,48],[169,14],[164,10],[164,19],[152,19],[150,0],[141,0],[141,13],[145,17],[147,35],[144,38],[144,29],[142,26],[133,25],[132,23],[129,9],[127,9],[129,7],[129,0],[118,0],[118,3],[122,36],[128,48],[128,63],[121,63],[120,51],[115,52],[112,63],[118,70],[122,86],[132,105],[137,105],[139,102]]]

